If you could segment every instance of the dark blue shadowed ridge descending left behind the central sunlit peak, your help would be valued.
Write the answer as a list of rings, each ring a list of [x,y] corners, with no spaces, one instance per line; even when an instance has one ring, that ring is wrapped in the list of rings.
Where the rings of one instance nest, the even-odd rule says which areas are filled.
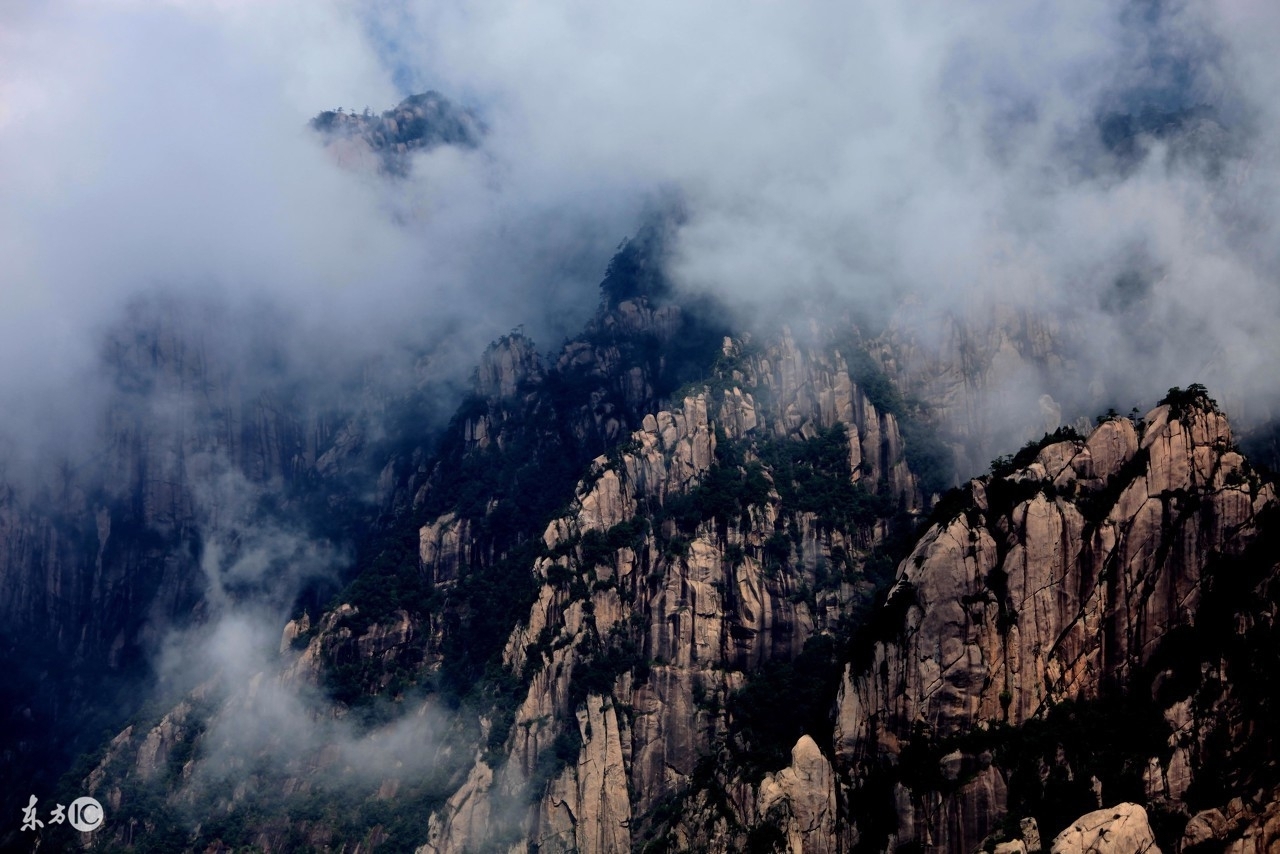
[[[282,672],[269,682],[302,698],[297,705],[282,700],[302,718],[315,713],[343,721],[340,732],[308,743],[305,752],[312,761],[305,764],[310,771],[298,773],[296,766],[264,758],[279,743],[232,744],[234,734],[219,743],[219,732],[243,729],[237,725],[253,708],[261,711],[264,700],[260,689],[218,667],[195,694],[168,713],[140,717],[95,759],[99,771],[91,785],[95,791],[113,793],[109,800],[122,821],[133,819],[150,834],[196,827],[197,835],[204,832],[210,840],[239,839],[244,827],[244,834],[261,831],[279,845],[289,837],[289,828],[297,830],[288,813],[301,803],[280,804],[279,796],[308,795],[312,784],[323,789],[335,761],[319,741],[357,743],[371,730],[376,735],[388,717],[410,707],[421,711],[424,691],[443,698],[444,705],[479,704],[483,709],[492,702],[500,685],[490,671],[511,625],[532,600],[530,568],[547,520],[571,498],[590,460],[639,426],[657,401],[700,375],[722,339],[716,321],[707,320],[710,312],[696,306],[650,303],[643,296],[621,298],[641,286],[660,292],[650,260],[659,251],[660,234],[653,230],[620,251],[605,278],[598,316],[558,355],[538,353],[518,333],[495,342],[476,370],[474,394],[434,452],[406,446],[383,467],[379,489],[387,495],[390,521],[357,554],[358,577],[340,607],[325,611],[312,603],[285,629]],[[430,530],[436,533],[434,539],[428,536]],[[425,562],[420,552],[428,556]],[[279,630],[275,624],[274,631]],[[280,699],[271,691],[275,688],[268,694]],[[308,695],[316,695],[314,708]],[[184,704],[191,708],[179,711]],[[480,737],[475,718],[470,720],[458,723],[460,744]],[[296,723],[311,729],[306,720]],[[193,750],[193,743],[198,749]],[[234,821],[196,818],[206,798],[216,803],[221,796],[216,785],[205,785],[206,771],[218,764],[207,758],[216,754],[220,761],[229,753],[236,754],[233,764],[252,754],[248,758],[257,757],[269,767],[214,812],[251,807],[257,814],[280,816],[283,825],[246,823],[239,813]],[[191,762],[186,772],[184,764],[174,764],[179,755]],[[174,757],[172,763],[169,757]],[[280,789],[273,789],[275,784]],[[430,800],[447,784],[445,778],[415,796]],[[364,791],[364,777],[355,785]],[[372,790],[379,787],[375,781]],[[276,800],[271,800],[273,791]],[[157,794],[166,809],[157,808]],[[264,805],[268,802],[271,805]],[[308,803],[333,814],[333,804],[319,791]],[[348,814],[307,832],[317,840],[329,839],[325,832],[349,839],[352,826],[362,821],[362,814]],[[370,819],[364,827],[375,823]]]

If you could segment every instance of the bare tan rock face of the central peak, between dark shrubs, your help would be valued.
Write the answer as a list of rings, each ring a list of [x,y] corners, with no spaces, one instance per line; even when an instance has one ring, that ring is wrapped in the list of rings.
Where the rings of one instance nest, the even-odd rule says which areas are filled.
[[[727,341],[726,359],[736,348]],[[737,385],[646,416],[625,451],[595,461],[573,512],[548,526],[543,542],[550,554],[535,567],[543,586],[504,653],[527,684],[504,762],[492,778],[480,771],[488,763],[477,763],[457,805],[451,802],[433,817],[421,850],[484,848],[495,831],[527,834],[543,851],[631,848],[639,841],[637,816],[686,789],[699,758],[719,743],[724,717],[708,698],[722,703],[749,670],[795,658],[817,630],[835,625],[855,585],[837,584],[818,598],[804,589],[817,586],[815,570],[833,553],[860,553],[877,542],[883,534],[878,520],[868,520],[859,534],[824,529],[814,513],[790,517],[795,545],[787,562],[794,560],[795,570],[782,572],[764,557],[765,542],[781,536],[788,521],[777,493],[745,507],[741,525],[718,530],[708,520],[687,539],[673,521],[648,530],[635,525],[654,508],[699,495],[713,466],[723,465],[727,446],[753,437],[799,443],[847,424],[847,435],[840,433],[846,483],[874,478],[892,504],[919,504],[895,417],[876,411],[838,352],[805,351],[786,334],[733,370],[742,385],[767,391],[771,405],[758,405]],[[438,525],[422,529],[424,542],[436,542]],[[609,548],[622,530],[627,542]],[[605,552],[588,557],[593,542],[605,544]],[[425,549],[424,560],[436,553]],[[608,662],[620,656],[650,662],[644,676],[614,672]],[[584,682],[593,686],[585,695]],[[749,804],[744,830],[707,836],[708,828],[690,821],[667,828],[675,844],[732,850],[751,826],[778,830],[791,850],[836,851],[849,840],[831,761],[809,736],[795,743],[790,766],[755,782],[726,785]],[[490,826],[476,836],[476,823],[461,812],[466,804],[494,813],[495,803],[539,789],[535,807],[515,818],[513,828]]]

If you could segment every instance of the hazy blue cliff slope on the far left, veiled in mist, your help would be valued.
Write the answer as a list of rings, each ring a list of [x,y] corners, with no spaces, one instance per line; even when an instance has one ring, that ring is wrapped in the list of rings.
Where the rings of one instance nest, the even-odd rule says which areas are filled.
[[[270,369],[264,338],[243,318],[140,301],[104,342],[88,447],[44,480],[0,484],[6,780],[50,786],[136,711],[165,634],[215,595],[251,594],[257,581],[229,570],[262,544],[253,531],[319,554],[311,525],[337,543],[376,511],[362,495],[372,389],[317,406]]]

